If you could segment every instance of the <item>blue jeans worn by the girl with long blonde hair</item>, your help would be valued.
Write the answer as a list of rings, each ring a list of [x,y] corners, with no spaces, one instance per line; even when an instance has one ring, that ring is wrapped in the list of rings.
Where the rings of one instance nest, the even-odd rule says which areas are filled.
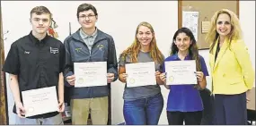
[[[123,114],[127,125],[157,125],[162,111],[161,93],[154,97],[124,101]]]

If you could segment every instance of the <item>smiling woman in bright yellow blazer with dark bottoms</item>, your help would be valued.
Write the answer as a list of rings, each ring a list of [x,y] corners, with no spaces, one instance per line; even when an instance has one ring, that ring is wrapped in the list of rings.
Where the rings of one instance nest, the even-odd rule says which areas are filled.
[[[235,13],[222,9],[211,20],[207,33],[215,122],[218,125],[246,125],[246,91],[252,89],[254,71]]]

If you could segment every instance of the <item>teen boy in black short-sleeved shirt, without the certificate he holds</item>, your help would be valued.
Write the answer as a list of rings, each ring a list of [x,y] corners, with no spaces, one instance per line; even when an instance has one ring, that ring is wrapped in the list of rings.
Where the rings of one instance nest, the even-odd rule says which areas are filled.
[[[17,113],[17,124],[63,124],[64,111],[63,63],[64,45],[56,38],[49,37],[47,31],[51,23],[51,13],[44,6],[31,10],[31,33],[13,42],[6,57],[3,71],[10,73],[10,88]],[[57,87],[58,112],[44,113],[24,118],[22,91]]]

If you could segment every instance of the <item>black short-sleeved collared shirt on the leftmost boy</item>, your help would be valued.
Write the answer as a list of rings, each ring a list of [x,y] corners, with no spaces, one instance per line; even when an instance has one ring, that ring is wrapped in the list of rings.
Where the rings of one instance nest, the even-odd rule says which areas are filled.
[[[65,47],[56,38],[42,40],[32,33],[13,42],[5,59],[3,71],[18,75],[20,96],[22,91],[58,85],[59,73],[64,70]],[[16,113],[15,105],[13,113]],[[45,113],[29,118],[49,118],[57,115]]]

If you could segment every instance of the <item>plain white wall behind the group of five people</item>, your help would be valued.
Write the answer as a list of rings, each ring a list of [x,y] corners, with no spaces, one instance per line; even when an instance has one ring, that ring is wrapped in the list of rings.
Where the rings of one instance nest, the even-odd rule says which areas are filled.
[[[150,22],[155,30],[157,44],[162,50],[163,55],[167,56],[171,45],[172,36],[178,28],[178,2],[177,1],[86,1],[95,5],[99,13],[97,26],[99,29],[109,33],[115,40],[117,55],[128,47],[135,37],[135,30],[140,21]],[[1,1],[3,13],[4,32],[9,30],[5,35],[4,41],[5,57],[10,49],[11,44],[18,38],[29,34],[30,11],[36,5],[45,5],[53,13],[53,18],[57,21],[57,32],[59,39],[63,41],[68,36],[68,22],[72,22],[72,32],[79,28],[76,21],[76,8],[82,1]],[[25,4],[26,7],[21,7]],[[250,13],[250,14],[248,14]],[[240,1],[240,19],[242,22],[244,39],[249,47],[252,63],[255,64],[255,2]],[[203,55],[208,67],[208,50],[199,51]],[[208,69],[209,70],[209,69]],[[6,74],[7,75],[7,74]],[[8,75],[6,76],[8,77]],[[8,78],[7,85],[9,84]],[[124,84],[119,80],[111,86],[112,91],[112,124],[124,122],[122,114],[123,89]],[[167,124],[166,119],[166,100],[168,90],[162,88],[164,106],[159,124]],[[7,86],[8,106],[9,106],[9,123],[13,124],[14,114],[13,96]]]

